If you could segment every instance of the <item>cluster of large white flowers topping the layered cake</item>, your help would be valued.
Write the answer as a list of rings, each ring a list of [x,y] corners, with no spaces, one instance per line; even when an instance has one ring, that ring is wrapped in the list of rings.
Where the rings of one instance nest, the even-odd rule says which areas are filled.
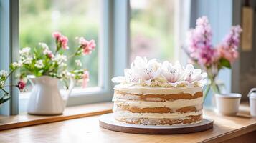
[[[177,61],[174,65],[169,61],[163,64],[156,59],[147,60],[139,56],[131,64],[131,69],[124,69],[124,77],[114,77],[112,82],[120,84],[139,84],[158,87],[202,87],[205,84],[206,73],[194,69],[192,64],[186,69]]]

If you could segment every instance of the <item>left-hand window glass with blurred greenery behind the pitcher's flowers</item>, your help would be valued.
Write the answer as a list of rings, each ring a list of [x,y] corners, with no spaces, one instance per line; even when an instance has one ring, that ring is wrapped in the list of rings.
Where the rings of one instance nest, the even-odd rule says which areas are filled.
[[[69,38],[67,51],[75,52],[76,36],[95,39],[95,51],[83,56],[81,61],[90,71],[88,87],[98,86],[98,33],[100,24],[100,4],[95,0],[21,0],[19,1],[19,44],[20,47],[38,46],[39,42],[54,46],[52,31],[60,31]],[[74,65],[72,59],[68,67]]]

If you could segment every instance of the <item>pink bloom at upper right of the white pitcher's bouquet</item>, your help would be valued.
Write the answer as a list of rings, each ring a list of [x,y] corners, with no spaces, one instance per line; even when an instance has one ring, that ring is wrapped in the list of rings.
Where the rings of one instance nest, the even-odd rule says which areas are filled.
[[[82,46],[82,53],[83,54],[91,54],[93,49],[95,49],[95,46],[96,46],[94,40],[87,41],[83,37],[79,38],[79,44]]]

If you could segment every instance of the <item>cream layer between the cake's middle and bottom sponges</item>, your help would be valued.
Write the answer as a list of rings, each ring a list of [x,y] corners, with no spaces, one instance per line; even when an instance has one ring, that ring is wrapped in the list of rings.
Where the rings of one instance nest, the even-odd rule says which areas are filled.
[[[117,111],[114,112],[116,118],[149,118],[149,119],[179,119],[188,116],[197,116],[202,114],[202,110],[199,112],[187,112],[187,113],[133,113],[129,111]]]

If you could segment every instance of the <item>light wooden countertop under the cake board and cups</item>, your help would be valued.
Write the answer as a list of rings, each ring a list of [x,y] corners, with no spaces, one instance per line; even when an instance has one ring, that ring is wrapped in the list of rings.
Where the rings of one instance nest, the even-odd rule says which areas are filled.
[[[0,142],[256,142],[256,118],[247,105],[240,106],[236,117],[204,110],[214,119],[214,128],[191,134],[146,135],[113,132],[99,127],[100,116],[39,124],[0,132]],[[246,140],[245,140],[246,139]]]

